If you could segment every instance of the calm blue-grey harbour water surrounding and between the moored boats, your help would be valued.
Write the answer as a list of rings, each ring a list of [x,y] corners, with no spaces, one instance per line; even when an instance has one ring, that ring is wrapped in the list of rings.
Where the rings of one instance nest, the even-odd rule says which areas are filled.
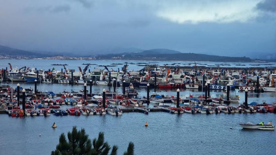
[[[48,69],[53,63],[67,63],[77,69],[82,63],[102,62],[120,63],[118,61],[59,61],[56,60],[1,60],[0,66],[6,67],[7,63],[12,65],[32,66]],[[125,62],[125,61],[122,61]],[[141,61],[138,61],[141,62]],[[18,63],[18,64],[16,64]],[[164,62],[166,63],[166,62]],[[163,62],[161,64],[164,64]],[[169,62],[173,63],[173,62]],[[135,66],[135,65],[134,65]],[[56,66],[55,66],[56,67]],[[58,66],[61,68],[61,66]],[[115,67],[114,67],[115,68]],[[137,70],[142,67],[137,66]],[[57,68],[58,69],[58,68]],[[130,65],[131,69],[131,65]],[[132,68],[136,70],[136,68]],[[60,70],[60,69],[59,69]],[[20,83],[24,87],[34,87],[34,84]],[[16,83],[13,83],[13,87]],[[101,92],[108,86],[93,85],[93,92]],[[83,85],[63,84],[39,84],[38,89],[42,91],[63,90],[79,91]],[[88,86],[89,90],[89,86]],[[146,89],[137,88],[139,97],[146,96]],[[156,90],[158,94],[176,95],[176,90]],[[117,88],[122,92],[122,87]],[[151,89],[150,93],[153,93]],[[244,92],[231,91],[231,94],[240,95],[240,102],[244,101]],[[189,94],[203,94],[198,90],[182,89],[180,97]],[[222,94],[222,91],[211,90],[211,96]],[[268,103],[275,101],[275,93],[248,92],[248,102]],[[66,106],[62,107],[63,109]],[[275,150],[276,135],[274,131],[244,130],[239,122],[267,123],[272,120],[276,124],[276,115],[273,113],[256,114],[170,114],[166,112],[124,113],[122,116],[36,116],[25,118],[12,118],[6,114],[0,115],[2,125],[0,126],[0,154],[50,154],[58,143],[58,137],[62,132],[72,130],[72,126],[85,128],[90,138],[97,137],[98,132],[103,131],[105,138],[111,145],[119,146],[119,154],[122,154],[129,141],[135,144],[135,154],[273,154]],[[145,127],[148,121],[149,126]],[[51,128],[56,122],[57,128]],[[233,127],[234,129],[230,129]],[[41,134],[41,137],[39,136]]]

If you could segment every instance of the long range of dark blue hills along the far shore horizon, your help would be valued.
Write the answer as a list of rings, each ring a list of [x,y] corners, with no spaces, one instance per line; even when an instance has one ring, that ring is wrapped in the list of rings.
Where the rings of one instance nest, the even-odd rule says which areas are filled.
[[[58,53],[58,52],[46,52],[46,51],[26,51],[21,49],[13,49],[7,46],[0,45],[1,56],[27,56],[33,58],[51,57],[56,55],[63,55],[68,57],[95,57],[96,59],[128,59],[128,60],[176,60],[176,61],[227,61],[227,62],[250,62],[252,59],[248,57],[229,57],[229,56],[217,56],[208,54],[195,54],[195,53],[182,53],[180,51],[171,49],[137,49],[137,48],[115,48],[106,52],[100,52],[98,55],[85,56],[84,54],[72,54],[72,53]],[[87,52],[86,52],[87,53]],[[89,52],[88,52],[89,53]],[[99,52],[98,52],[99,53]],[[103,54],[104,53],[104,54]],[[274,60],[270,58],[269,60]],[[276,59],[275,59],[276,60]]]

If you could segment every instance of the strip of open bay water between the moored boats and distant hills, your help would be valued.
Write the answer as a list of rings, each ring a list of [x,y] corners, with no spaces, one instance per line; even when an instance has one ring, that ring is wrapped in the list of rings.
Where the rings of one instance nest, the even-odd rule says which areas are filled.
[[[67,69],[75,69],[78,70],[78,66],[81,66],[82,68],[84,65],[81,64],[98,64],[98,65],[110,65],[112,63],[118,64],[118,63],[125,63],[125,62],[133,62],[133,63],[138,63],[138,62],[144,62],[148,63],[149,61],[142,61],[142,60],[48,60],[48,59],[40,59],[40,60],[34,60],[34,59],[1,59],[0,63],[0,68],[6,68],[8,67],[8,63],[11,63],[13,67],[18,66],[19,68],[26,66],[26,67],[36,67],[37,69],[52,69],[53,67],[57,70],[61,70],[63,66],[51,66],[51,64],[68,64],[66,66]],[[176,63],[176,65],[180,66],[194,66],[195,61],[151,61],[155,62],[156,65],[164,65],[164,64],[173,64]],[[187,65],[190,63],[191,65]],[[196,63],[201,63],[201,64],[207,64],[207,65],[215,65],[215,64],[229,64],[230,66],[221,66],[221,67],[236,67],[236,68],[244,68],[244,67],[274,67],[276,68],[276,63],[275,62],[269,62],[269,63],[257,63],[257,62],[246,62],[246,63],[230,63],[230,62],[209,62],[209,61],[197,61]],[[183,65],[185,64],[185,65]],[[236,64],[241,64],[245,66],[236,66]],[[272,65],[259,65],[259,64],[272,64]],[[207,66],[204,65],[204,66]],[[259,65],[259,66],[252,66],[252,65]],[[114,70],[117,70],[118,68],[121,70],[121,68],[124,65],[118,65],[115,67],[108,67],[109,69],[113,68]],[[198,65],[200,66],[200,65]],[[90,69],[92,71],[93,68],[97,68],[97,65],[91,65]],[[9,68],[9,67],[8,67]],[[99,67],[103,69],[104,67]],[[130,70],[141,70],[143,66],[137,66],[137,65],[131,65],[129,64],[128,69]],[[210,66],[212,68],[212,66]]]

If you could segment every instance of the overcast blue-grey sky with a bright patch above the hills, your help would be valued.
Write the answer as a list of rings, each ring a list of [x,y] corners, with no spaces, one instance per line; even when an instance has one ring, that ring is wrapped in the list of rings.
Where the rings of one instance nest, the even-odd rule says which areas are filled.
[[[276,53],[276,0],[0,0],[0,45],[268,57]]]

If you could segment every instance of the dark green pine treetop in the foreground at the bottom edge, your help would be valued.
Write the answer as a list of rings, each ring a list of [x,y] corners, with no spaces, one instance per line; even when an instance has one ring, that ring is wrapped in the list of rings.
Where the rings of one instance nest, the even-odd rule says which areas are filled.
[[[72,132],[62,133],[59,137],[59,144],[51,155],[108,155],[111,149],[108,142],[104,142],[104,132],[99,132],[98,138],[93,142],[88,138],[88,134],[82,128],[80,131],[74,126]],[[117,155],[117,146],[113,146],[110,155]],[[134,144],[130,142],[124,155],[134,155]]]

